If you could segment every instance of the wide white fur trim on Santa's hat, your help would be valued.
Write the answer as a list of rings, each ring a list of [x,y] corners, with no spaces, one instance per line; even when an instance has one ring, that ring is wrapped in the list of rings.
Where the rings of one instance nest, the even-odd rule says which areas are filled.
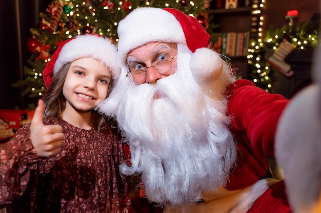
[[[160,8],[133,10],[119,22],[118,62],[124,65],[129,51],[148,42],[186,43],[185,35],[176,17]]]

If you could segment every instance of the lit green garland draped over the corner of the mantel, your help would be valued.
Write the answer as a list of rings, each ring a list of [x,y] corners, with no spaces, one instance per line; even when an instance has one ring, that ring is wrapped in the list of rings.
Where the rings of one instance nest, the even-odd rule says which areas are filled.
[[[283,26],[280,29],[271,27],[264,40],[258,42],[251,40],[247,55],[250,67],[249,78],[256,86],[271,92],[272,81],[270,78],[271,64],[265,58],[268,50],[276,50],[283,39],[288,40],[295,49],[315,48],[318,45],[320,21],[299,23],[297,26]]]

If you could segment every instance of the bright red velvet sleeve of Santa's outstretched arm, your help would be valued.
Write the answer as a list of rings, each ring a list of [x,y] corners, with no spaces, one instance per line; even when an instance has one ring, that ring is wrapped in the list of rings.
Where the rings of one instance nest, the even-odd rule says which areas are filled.
[[[247,80],[236,81],[230,94],[228,110],[234,117],[233,125],[246,133],[255,150],[274,156],[277,122],[289,100]]]

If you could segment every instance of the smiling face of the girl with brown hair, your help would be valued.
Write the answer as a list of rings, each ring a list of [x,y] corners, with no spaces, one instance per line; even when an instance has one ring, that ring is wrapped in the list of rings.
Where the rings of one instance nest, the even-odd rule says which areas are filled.
[[[70,64],[63,86],[66,111],[91,112],[107,98],[111,73],[101,61],[81,58]]]

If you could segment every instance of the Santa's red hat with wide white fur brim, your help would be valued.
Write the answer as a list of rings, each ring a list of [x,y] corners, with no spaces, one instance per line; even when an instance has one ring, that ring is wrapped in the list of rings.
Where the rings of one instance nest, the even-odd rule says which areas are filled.
[[[186,44],[193,53],[206,48],[210,35],[196,18],[172,8],[139,8],[119,22],[118,62],[126,63],[129,51],[148,42]]]

